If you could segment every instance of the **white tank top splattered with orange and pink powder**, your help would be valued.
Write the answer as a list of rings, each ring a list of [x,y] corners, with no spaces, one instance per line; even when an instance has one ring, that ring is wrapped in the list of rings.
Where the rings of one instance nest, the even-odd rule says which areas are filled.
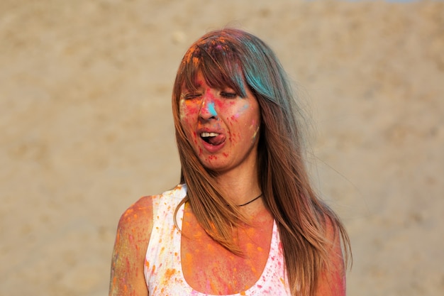
[[[145,281],[150,296],[208,295],[190,287],[182,273],[180,258],[182,236],[174,226],[173,218],[174,209],[186,194],[186,185],[177,185],[173,190],[152,198],[153,224],[144,264]],[[182,228],[183,214],[184,205],[182,204],[177,212],[179,228]],[[262,275],[248,290],[233,295],[291,295],[276,222],[273,224],[270,253]]]

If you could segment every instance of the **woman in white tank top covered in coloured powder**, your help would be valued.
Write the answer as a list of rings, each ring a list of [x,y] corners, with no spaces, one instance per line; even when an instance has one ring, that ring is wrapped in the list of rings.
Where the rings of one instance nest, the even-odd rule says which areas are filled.
[[[172,109],[181,182],[121,216],[109,295],[345,295],[350,241],[311,187],[272,50],[207,33],[183,57]]]

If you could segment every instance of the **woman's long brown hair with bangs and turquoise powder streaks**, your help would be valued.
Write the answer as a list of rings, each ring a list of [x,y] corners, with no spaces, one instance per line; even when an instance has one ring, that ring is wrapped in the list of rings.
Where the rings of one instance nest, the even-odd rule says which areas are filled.
[[[277,222],[292,295],[314,295],[318,275],[328,268],[327,226],[339,231],[350,254],[347,232],[336,214],[311,187],[304,161],[298,119],[301,110],[282,65],[259,38],[245,31],[224,28],[206,33],[185,53],[172,94],[177,147],[182,164],[181,182],[201,226],[213,239],[240,255],[233,227],[243,216],[219,193],[215,172],[204,168],[185,136],[179,118],[182,87],[192,89],[197,72],[211,87],[231,87],[245,97],[248,87],[260,105],[258,172],[266,207]],[[229,203],[229,202],[228,202]],[[178,207],[177,207],[178,209]]]

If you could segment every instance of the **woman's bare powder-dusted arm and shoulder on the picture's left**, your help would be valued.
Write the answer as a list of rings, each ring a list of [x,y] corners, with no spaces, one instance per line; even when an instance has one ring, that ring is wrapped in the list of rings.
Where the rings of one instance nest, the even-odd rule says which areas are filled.
[[[148,296],[143,265],[151,229],[152,199],[142,197],[122,214],[118,222],[109,296]]]

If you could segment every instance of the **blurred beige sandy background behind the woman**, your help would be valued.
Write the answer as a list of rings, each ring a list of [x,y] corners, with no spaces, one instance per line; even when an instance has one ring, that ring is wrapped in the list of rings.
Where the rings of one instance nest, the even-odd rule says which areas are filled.
[[[443,2],[1,0],[1,296],[106,295],[120,214],[178,182],[179,60],[227,24],[309,104],[348,295],[444,295]]]

